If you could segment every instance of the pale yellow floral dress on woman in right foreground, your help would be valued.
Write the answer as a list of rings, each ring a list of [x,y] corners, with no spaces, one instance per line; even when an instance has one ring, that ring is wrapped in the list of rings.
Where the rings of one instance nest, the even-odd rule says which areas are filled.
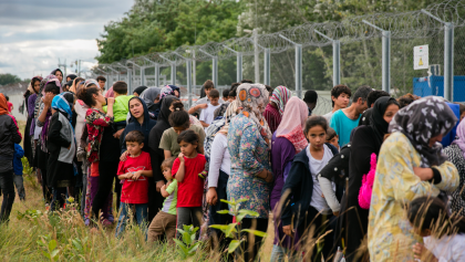
[[[434,167],[441,172],[440,184],[420,180],[413,172],[420,160],[402,133],[393,133],[381,147],[369,216],[371,261],[413,261],[412,245],[423,240],[406,220],[404,203],[422,196],[436,197],[440,190],[451,192],[458,186],[458,171],[450,161]]]

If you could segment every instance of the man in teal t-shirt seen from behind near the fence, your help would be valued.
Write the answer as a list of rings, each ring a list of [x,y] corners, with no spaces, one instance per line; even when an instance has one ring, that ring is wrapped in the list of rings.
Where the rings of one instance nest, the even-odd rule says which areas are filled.
[[[356,90],[352,98],[352,105],[337,111],[330,120],[330,127],[335,130],[339,136],[339,146],[342,148],[350,142],[350,133],[359,126],[360,116],[368,108],[366,97],[372,88],[370,86],[361,86]]]

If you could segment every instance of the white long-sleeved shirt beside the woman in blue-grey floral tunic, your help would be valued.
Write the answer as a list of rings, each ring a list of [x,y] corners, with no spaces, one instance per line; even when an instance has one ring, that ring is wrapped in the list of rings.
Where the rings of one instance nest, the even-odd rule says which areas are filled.
[[[208,187],[218,187],[219,170],[228,174],[231,172],[231,157],[228,150],[228,138],[216,133],[215,139],[210,148],[210,166],[208,170]]]

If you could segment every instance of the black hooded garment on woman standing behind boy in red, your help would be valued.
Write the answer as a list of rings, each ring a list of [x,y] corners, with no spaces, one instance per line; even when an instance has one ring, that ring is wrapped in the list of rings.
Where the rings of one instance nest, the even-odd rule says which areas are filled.
[[[142,107],[144,108],[144,122],[141,125],[137,122],[137,118],[135,118],[131,114],[130,124],[127,124],[126,128],[124,128],[124,132],[121,135],[121,142],[122,142],[122,151],[121,153],[123,154],[126,150],[126,142],[125,142],[124,138],[132,130],[140,130],[140,132],[142,132],[142,134],[144,134],[144,148],[142,148],[142,150],[148,153],[149,151],[149,149],[148,149],[148,135],[151,134],[152,128],[155,126],[156,120],[152,119],[148,116],[147,105],[145,104],[145,102],[141,97],[133,96],[131,99],[127,101],[127,106],[130,105],[130,102],[132,99],[138,99],[142,103]]]

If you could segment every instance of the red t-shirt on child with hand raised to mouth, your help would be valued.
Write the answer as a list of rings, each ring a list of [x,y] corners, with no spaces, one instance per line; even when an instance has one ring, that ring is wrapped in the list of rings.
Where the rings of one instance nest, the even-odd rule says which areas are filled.
[[[204,179],[198,174],[205,169],[205,156],[197,154],[195,158],[184,157],[186,167],[183,182],[177,184],[177,206],[178,208],[202,207],[202,198],[204,197]],[[179,169],[179,158],[173,164],[172,174],[176,176]]]

